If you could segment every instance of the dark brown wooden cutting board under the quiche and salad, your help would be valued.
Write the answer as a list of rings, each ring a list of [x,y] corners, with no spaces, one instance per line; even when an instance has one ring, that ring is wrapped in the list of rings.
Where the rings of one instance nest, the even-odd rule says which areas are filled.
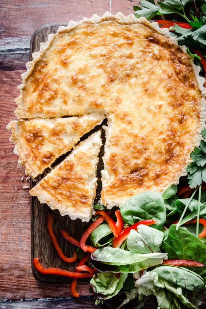
[[[40,49],[40,42],[46,42],[48,39],[48,35],[50,33],[56,33],[59,26],[66,26],[67,24],[47,24],[43,25],[40,28],[37,28],[34,32],[31,43],[30,43],[30,61],[32,60],[32,53],[39,51]],[[104,121],[104,124],[106,124],[106,121]],[[94,131],[97,131],[100,128],[100,126],[95,127],[90,133],[83,136],[83,139],[87,138],[88,135],[93,133]],[[102,138],[103,138],[103,144],[105,143],[105,137],[104,137],[104,130],[102,129]],[[99,179],[101,178],[101,172],[100,170],[103,168],[103,162],[102,162],[102,156],[103,156],[103,150],[104,147],[102,146],[99,154],[99,163],[98,163],[98,172],[97,177]],[[68,153],[66,154],[68,155]],[[61,156],[57,162],[54,165],[57,165],[64,157]],[[35,182],[32,180],[30,181],[31,188],[35,185]],[[101,192],[101,181],[98,180],[97,185],[97,195],[95,202],[98,202]],[[48,212],[50,214],[53,214],[53,229],[55,232],[55,235],[57,236],[57,239],[60,243],[60,246],[66,256],[72,256],[74,253],[75,246],[69,243],[67,240],[65,240],[60,233],[61,229],[65,229],[68,231],[68,233],[72,236],[74,236],[76,239],[80,239],[82,232],[85,230],[88,223],[82,223],[81,220],[71,220],[69,216],[62,217],[59,214],[58,210],[51,210],[46,204],[42,205],[38,201],[36,197],[31,197],[31,255],[32,260],[34,257],[39,257],[41,263],[45,267],[58,267],[62,269],[67,269],[69,271],[75,271],[75,266],[77,265],[77,262],[75,263],[66,263],[63,260],[60,259],[58,256],[56,250],[54,249],[54,246],[51,242],[51,239],[48,235],[47,231],[47,214]],[[65,283],[70,282],[71,278],[69,277],[62,277],[57,275],[46,275],[41,274],[36,271],[33,267],[32,263],[32,272],[34,274],[34,277],[45,283]],[[82,282],[89,282],[90,279],[79,279],[79,281]],[[91,296],[89,294],[89,284],[86,284],[88,287],[88,297]],[[82,286],[83,287],[83,286]],[[69,287],[68,287],[69,288]],[[85,290],[85,284],[83,289]],[[110,304],[110,308],[115,308],[115,305]],[[157,308],[156,303],[154,302],[153,298],[145,304],[144,308],[150,308],[155,309]]]

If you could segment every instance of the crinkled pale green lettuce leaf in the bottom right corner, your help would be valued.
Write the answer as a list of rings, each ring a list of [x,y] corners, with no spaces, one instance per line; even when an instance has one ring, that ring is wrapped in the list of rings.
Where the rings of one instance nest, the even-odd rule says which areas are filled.
[[[165,268],[165,269],[164,269]],[[187,283],[184,284],[184,278]],[[188,285],[187,285],[188,284]],[[186,296],[185,289],[190,291],[204,288],[204,280],[187,269],[174,266],[159,266],[146,272],[136,281],[140,295],[154,294],[162,309],[182,309],[184,306],[196,308]],[[192,294],[193,292],[190,292]]]

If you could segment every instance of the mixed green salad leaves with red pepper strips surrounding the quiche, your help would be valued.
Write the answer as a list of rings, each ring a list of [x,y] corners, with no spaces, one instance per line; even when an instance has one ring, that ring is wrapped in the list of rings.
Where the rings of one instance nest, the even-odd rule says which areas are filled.
[[[187,46],[187,53],[201,67],[200,74],[206,76],[206,0],[142,0],[140,5],[134,6],[137,18],[172,16],[173,20],[157,22]],[[121,299],[118,309],[129,302],[138,309],[154,295],[158,309],[205,306],[206,129],[201,133],[200,147],[190,155],[188,176],[180,179],[179,186],[173,184],[162,194],[139,193],[116,211],[95,205],[92,223],[80,241],[61,230],[77,247],[72,257],[64,255],[48,214],[48,233],[57,253],[67,263],[79,262],[74,272],[45,268],[39,258],[33,260],[34,267],[41,273],[72,277],[74,297],[80,295],[78,278],[91,278],[96,304],[114,297],[116,304]]]

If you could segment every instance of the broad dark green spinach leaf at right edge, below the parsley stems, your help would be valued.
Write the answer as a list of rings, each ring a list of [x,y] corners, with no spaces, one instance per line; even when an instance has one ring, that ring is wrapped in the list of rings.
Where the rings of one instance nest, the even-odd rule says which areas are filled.
[[[165,252],[169,259],[196,260],[206,264],[206,246],[196,236],[176,224],[170,226],[164,237]]]

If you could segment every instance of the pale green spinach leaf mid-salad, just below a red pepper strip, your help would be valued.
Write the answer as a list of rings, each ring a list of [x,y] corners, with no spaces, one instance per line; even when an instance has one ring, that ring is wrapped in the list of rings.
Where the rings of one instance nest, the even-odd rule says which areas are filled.
[[[140,224],[137,232],[135,230],[129,232],[127,248],[133,253],[157,252],[162,244],[163,237],[163,232]]]

